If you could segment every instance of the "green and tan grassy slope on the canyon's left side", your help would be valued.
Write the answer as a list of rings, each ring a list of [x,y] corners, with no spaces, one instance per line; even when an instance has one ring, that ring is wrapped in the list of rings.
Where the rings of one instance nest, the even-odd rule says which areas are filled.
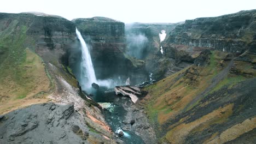
[[[27,29],[26,24],[13,20],[0,32],[0,113],[45,100],[39,93],[50,89],[42,59],[25,47],[25,43],[33,44]],[[38,99],[31,99],[36,94]]]

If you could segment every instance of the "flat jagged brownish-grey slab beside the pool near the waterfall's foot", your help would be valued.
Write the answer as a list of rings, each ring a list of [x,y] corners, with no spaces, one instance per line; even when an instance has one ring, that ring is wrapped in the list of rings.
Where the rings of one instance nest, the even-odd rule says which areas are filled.
[[[137,103],[138,97],[142,95],[141,89],[135,86],[117,86],[115,87],[115,94],[129,96],[134,104]]]

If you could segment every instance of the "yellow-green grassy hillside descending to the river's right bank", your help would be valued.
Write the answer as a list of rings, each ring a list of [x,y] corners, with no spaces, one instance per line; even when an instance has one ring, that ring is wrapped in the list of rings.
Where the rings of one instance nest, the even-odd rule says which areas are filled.
[[[171,143],[184,143],[185,137],[191,135],[191,133],[202,132],[208,129],[210,125],[228,121],[228,117],[232,115],[234,103],[225,104],[222,107],[217,107],[217,109],[214,108],[215,110],[206,113],[206,115],[202,117],[198,117],[193,122],[187,122],[187,119],[193,117],[193,113],[195,113],[193,112],[193,108],[199,105],[203,107],[211,102],[202,102],[204,96],[189,105],[188,109],[185,109],[197,95],[205,91],[205,89],[211,85],[213,77],[218,76],[220,71],[228,65],[228,62],[224,62],[224,67],[219,66],[220,62],[223,63],[222,58],[224,56],[225,53],[223,52],[212,52],[211,63],[207,67],[191,66],[145,88],[149,94],[144,103],[146,103],[147,113],[151,122],[154,124],[159,139]],[[251,55],[251,57],[252,61],[254,61],[255,56]],[[254,74],[255,76],[255,69],[252,68],[252,63],[236,61],[234,65],[237,69],[242,71],[242,73],[245,71],[245,68],[247,68],[246,71],[249,71],[249,74]],[[223,87],[230,89],[247,78],[247,74],[236,75],[229,73],[205,95],[218,92],[219,89]],[[189,112],[191,112],[190,115],[178,120],[176,119],[179,114]],[[224,114],[220,115],[220,112]],[[173,121],[174,123],[168,124],[168,122]],[[247,125],[247,127],[249,126]],[[243,131],[243,133],[244,132],[245,131]],[[217,133],[215,135],[217,135]]]

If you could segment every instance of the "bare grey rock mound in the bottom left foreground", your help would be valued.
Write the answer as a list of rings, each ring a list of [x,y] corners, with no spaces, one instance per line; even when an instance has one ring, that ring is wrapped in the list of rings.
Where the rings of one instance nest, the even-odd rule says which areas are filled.
[[[50,109],[53,106],[55,110]],[[32,105],[7,113],[5,117],[15,117],[1,121],[0,143],[30,143],[31,140],[34,143],[79,143],[82,139],[74,133],[84,129],[85,124],[74,118],[77,115],[73,104],[53,103]],[[69,130],[71,127],[72,131]]]

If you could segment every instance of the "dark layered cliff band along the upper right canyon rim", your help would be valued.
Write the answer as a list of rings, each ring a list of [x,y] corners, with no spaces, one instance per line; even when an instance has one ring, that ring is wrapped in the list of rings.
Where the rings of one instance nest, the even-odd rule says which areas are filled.
[[[207,47],[220,51],[241,53],[255,43],[255,12],[240,11],[218,17],[186,20],[170,33],[168,44]]]

